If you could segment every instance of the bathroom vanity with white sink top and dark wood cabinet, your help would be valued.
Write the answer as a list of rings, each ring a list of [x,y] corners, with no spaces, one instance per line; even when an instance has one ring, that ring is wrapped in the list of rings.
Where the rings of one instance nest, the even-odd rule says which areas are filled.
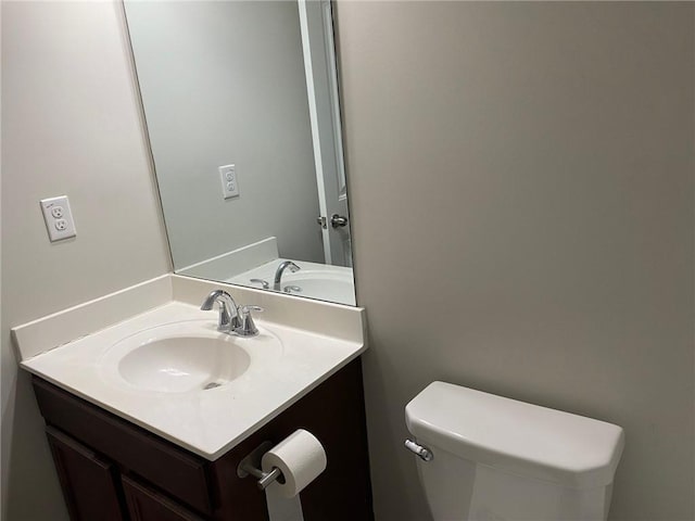
[[[228,287],[266,309],[240,339],[192,304],[211,288],[166,276],[13,329],[71,519],[274,521],[239,466],[298,429],[328,460],[303,519],[372,519],[364,310]]]

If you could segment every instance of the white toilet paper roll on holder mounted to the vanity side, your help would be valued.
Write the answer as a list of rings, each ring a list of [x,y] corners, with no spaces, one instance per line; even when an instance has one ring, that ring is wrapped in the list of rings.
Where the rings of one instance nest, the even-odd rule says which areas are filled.
[[[285,483],[270,484],[282,497],[296,496],[306,485],[326,470],[326,450],[314,434],[299,429],[263,455],[264,472],[277,467]]]

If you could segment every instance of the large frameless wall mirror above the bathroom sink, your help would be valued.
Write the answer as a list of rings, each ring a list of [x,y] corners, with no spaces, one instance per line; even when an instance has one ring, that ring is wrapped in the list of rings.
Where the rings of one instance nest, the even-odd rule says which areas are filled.
[[[124,4],[175,271],[354,305],[330,1]]]

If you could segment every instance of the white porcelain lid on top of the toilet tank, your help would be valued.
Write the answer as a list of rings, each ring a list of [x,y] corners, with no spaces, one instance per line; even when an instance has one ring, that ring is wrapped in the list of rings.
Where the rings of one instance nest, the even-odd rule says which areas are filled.
[[[444,382],[422,390],[405,417],[435,458],[439,448],[574,488],[611,483],[624,445],[618,425]]]

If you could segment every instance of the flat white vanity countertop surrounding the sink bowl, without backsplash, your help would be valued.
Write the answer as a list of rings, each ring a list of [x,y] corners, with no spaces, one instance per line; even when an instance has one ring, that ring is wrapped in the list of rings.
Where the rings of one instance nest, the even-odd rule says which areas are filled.
[[[208,320],[214,328],[216,318],[216,313],[169,302],[26,358],[21,365],[92,404],[215,460],[366,348],[362,341],[261,319],[256,320],[260,338],[275,335],[280,339],[281,348],[257,361],[261,359],[257,348],[264,347],[263,342],[241,339],[242,347],[251,357],[251,367],[238,379],[216,389],[189,393],[144,391],[114,378],[113,368],[104,364],[115,343],[138,331],[180,320]]]

